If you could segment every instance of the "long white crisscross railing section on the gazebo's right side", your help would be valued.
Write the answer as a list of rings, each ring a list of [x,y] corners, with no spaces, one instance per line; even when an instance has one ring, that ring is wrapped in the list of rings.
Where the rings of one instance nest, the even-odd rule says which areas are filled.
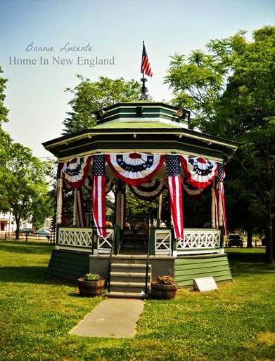
[[[177,254],[219,252],[220,230],[184,230],[184,239],[177,241]]]

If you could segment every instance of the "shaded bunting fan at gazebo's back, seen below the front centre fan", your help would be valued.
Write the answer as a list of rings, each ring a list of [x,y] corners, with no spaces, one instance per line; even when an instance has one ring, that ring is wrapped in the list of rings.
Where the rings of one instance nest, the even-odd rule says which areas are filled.
[[[155,179],[149,180],[141,185],[129,185],[129,189],[134,193],[134,195],[144,201],[153,201],[153,199],[158,198],[164,188],[165,184],[163,180]]]

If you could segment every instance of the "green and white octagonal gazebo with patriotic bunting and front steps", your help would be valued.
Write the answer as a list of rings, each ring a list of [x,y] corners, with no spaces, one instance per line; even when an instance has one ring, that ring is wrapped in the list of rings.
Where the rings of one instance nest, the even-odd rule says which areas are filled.
[[[148,294],[157,275],[171,275],[179,287],[196,277],[231,281],[223,239],[226,232],[224,167],[237,143],[188,129],[188,110],[137,100],[96,113],[96,126],[43,143],[58,158],[56,249],[49,277],[76,282],[99,273],[109,296]],[[125,188],[151,201],[167,189],[171,226],[146,219],[126,227]],[[93,214],[85,212],[81,190],[91,192]],[[210,188],[207,224],[186,228],[184,199]],[[115,195],[114,225],[106,223],[105,195]],[[63,194],[73,192],[67,225]],[[206,226],[206,227],[205,227]],[[134,275],[136,273],[136,275]]]

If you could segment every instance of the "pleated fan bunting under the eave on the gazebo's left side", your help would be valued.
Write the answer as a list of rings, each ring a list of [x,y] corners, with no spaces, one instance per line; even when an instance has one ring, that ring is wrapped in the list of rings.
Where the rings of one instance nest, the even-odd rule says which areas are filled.
[[[91,164],[91,156],[74,157],[70,161],[63,163],[61,174],[65,179],[65,183],[72,188],[79,188],[83,185],[87,178],[89,165]]]

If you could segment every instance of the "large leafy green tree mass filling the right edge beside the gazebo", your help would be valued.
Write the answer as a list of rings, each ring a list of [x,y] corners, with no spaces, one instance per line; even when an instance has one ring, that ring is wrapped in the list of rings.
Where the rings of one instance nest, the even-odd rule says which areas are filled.
[[[275,27],[256,30],[252,41],[243,31],[212,40],[207,53],[174,55],[165,79],[174,91],[174,105],[189,107],[196,116],[191,126],[240,143],[226,179],[235,206],[246,205],[243,221],[250,239],[253,223],[263,223],[268,263],[273,262],[274,242],[274,45]]]

